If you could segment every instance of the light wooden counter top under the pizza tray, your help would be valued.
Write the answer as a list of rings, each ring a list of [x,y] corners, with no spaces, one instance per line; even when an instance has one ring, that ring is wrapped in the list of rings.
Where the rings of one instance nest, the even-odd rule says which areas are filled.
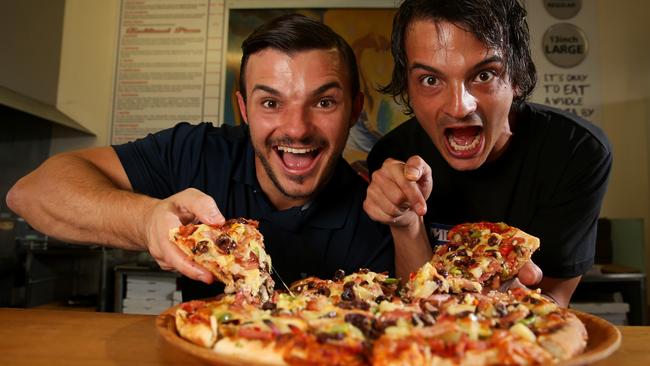
[[[168,345],[155,316],[0,308],[0,365],[205,365]],[[650,327],[619,327],[598,366],[650,364]]]

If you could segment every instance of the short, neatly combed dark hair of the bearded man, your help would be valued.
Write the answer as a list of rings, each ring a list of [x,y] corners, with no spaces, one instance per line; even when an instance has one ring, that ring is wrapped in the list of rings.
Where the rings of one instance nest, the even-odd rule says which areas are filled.
[[[359,94],[359,68],[352,47],[330,27],[302,14],[281,15],[259,26],[242,43],[239,90],[246,100],[245,69],[250,55],[267,48],[287,54],[315,49],[339,51],[347,66],[352,98]]]

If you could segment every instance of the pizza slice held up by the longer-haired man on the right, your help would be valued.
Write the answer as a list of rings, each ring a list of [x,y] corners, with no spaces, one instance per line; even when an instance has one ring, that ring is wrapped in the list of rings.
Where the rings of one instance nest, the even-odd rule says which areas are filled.
[[[497,289],[514,278],[539,248],[539,239],[502,222],[466,223],[453,227],[449,242],[436,247],[431,263],[439,274],[464,281],[451,283],[452,292]]]

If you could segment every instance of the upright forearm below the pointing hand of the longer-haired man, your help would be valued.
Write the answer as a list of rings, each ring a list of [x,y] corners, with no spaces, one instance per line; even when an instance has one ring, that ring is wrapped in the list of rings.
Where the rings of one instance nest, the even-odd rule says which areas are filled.
[[[395,242],[395,273],[406,282],[411,272],[415,272],[433,256],[422,217],[414,225],[391,226]]]

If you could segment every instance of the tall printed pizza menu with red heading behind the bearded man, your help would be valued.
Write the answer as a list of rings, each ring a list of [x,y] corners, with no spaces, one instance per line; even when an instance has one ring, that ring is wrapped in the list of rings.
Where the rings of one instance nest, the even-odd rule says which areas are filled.
[[[224,0],[122,0],[111,143],[218,122]]]

